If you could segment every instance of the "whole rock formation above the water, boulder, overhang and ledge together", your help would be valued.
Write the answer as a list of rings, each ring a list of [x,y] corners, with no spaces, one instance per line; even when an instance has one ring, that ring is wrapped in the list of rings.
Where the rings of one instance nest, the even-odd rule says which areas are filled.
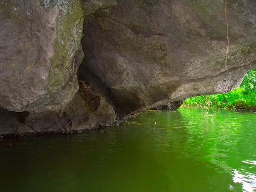
[[[227,2],[2,0],[0,134],[107,126],[238,87],[256,67],[256,2]]]

